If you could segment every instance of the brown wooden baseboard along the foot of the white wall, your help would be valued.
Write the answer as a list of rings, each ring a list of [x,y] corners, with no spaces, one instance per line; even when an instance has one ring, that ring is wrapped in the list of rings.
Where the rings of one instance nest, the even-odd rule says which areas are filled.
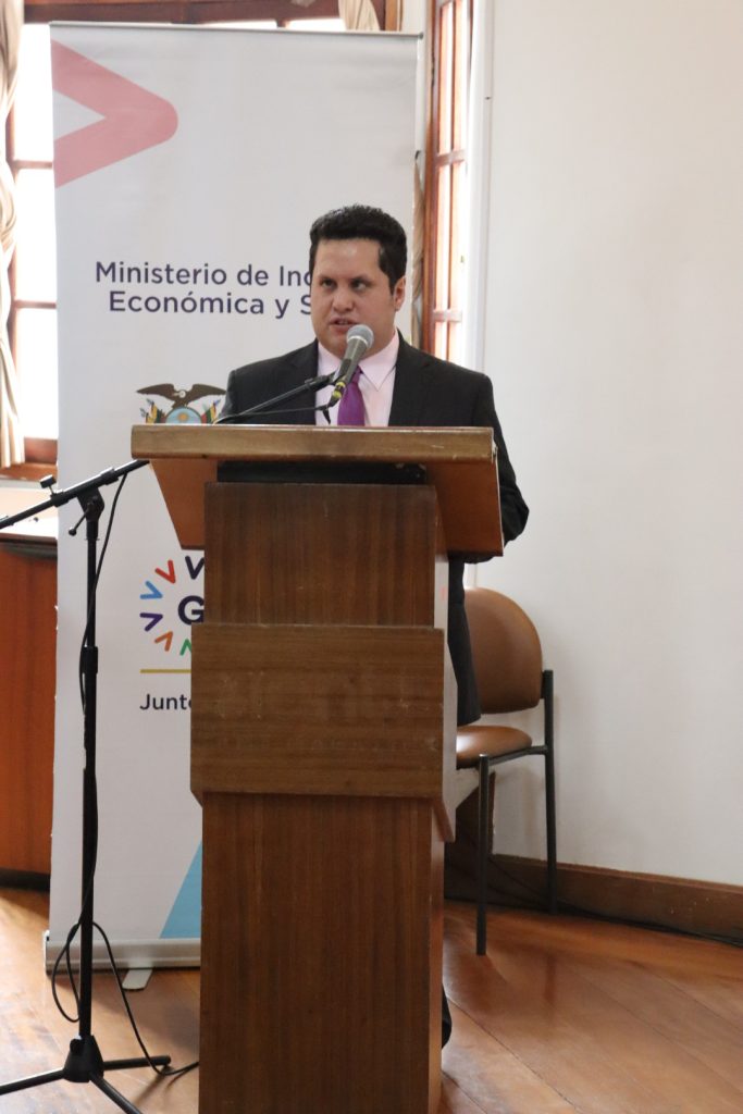
[[[468,885],[461,864],[448,881],[448,896],[473,899],[473,878],[470,877]],[[517,856],[493,856],[488,888],[495,905],[544,908],[546,863]],[[741,886],[560,863],[557,890],[560,912],[743,942]]]

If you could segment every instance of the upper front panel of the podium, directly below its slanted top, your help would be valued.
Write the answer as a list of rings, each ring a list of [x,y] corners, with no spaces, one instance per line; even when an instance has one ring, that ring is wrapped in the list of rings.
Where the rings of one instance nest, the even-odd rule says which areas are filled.
[[[436,625],[433,488],[207,486],[206,623]]]

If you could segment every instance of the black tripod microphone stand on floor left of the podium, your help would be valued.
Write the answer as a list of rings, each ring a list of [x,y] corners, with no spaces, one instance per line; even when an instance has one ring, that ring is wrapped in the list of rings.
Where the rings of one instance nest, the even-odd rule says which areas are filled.
[[[0,1095],[25,1091],[28,1087],[41,1086],[57,1079],[69,1083],[92,1083],[102,1091],[119,1110],[127,1114],[140,1114],[138,1108],[124,1097],[105,1078],[105,1072],[123,1068],[165,1066],[170,1063],[169,1056],[136,1057],[133,1059],[105,1061],[98,1043],[92,1034],[92,934],[94,934],[94,874],[97,851],[97,790],[96,790],[96,697],[98,673],[98,647],[96,646],[96,567],[98,524],[104,511],[104,500],[100,488],[114,483],[137,468],[144,468],[147,460],[130,460],[120,468],[109,468],[98,476],[76,483],[66,490],[55,491],[53,476],[41,480],[41,486],[49,490],[49,498],[17,515],[0,518],[0,530],[25,518],[48,510],[50,507],[61,507],[77,499],[82,507],[86,520],[87,540],[87,624],[82,643],[82,677],[84,677],[84,745],[85,770],[82,774],[82,906],[80,911],[80,986],[78,994],[79,1033],[70,1042],[65,1066],[56,1072],[16,1079],[13,1083],[0,1085]],[[81,521],[81,520],[80,520]],[[78,524],[79,525],[79,524]],[[77,529],[77,527],[75,527]],[[71,531],[74,532],[74,531]],[[68,939],[68,946],[70,940]]]

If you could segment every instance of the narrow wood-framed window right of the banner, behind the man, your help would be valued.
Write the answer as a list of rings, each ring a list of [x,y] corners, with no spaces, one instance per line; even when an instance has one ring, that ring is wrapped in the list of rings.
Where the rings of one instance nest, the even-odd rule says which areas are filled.
[[[471,0],[432,0],[433,81],[428,164],[423,340],[459,359]]]

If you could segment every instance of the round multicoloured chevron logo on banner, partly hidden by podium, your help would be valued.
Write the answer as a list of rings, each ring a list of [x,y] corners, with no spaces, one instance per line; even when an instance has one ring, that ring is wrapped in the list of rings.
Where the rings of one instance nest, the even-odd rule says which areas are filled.
[[[203,557],[184,554],[177,563],[158,565],[145,580],[139,618],[145,633],[166,654],[190,655],[190,628],[204,617],[203,569]]]

